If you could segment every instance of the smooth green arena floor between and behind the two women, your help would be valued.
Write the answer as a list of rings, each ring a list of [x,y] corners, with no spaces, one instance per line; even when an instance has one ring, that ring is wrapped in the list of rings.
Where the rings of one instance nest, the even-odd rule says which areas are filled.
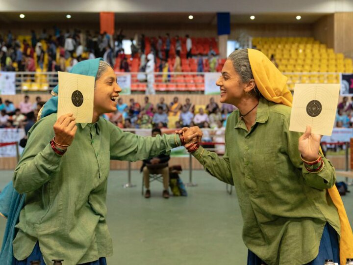
[[[12,171],[0,171],[0,189]],[[188,171],[181,175],[188,182]],[[247,249],[241,239],[242,218],[236,194],[203,171],[194,171],[196,187],[188,197],[162,198],[162,184],[151,184],[151,198],[141,196],[141,174],[132,172],[136,187],[123,188],[127,171],[111,171],[108,225],[114,255],[109,265],[244,265]],[[343,179],[339,179],[343,180]],[[353,186],[351,187],[353,191]],[[353,192],[343,197],[353,225]],[[5,219],[0,219],[2,238]]]

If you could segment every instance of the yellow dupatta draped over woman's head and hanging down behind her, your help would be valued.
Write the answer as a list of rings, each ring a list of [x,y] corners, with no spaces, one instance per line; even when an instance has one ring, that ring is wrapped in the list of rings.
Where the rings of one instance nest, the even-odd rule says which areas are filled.
[[[287,88],[287,77],[260,51],[248,49],[252,75],[256,86],[265,99],[277,104],[292,106],[292,93]],[[336,206],[340,224],[341,237],[339,241],[340,262],[346,264],[347,258],[353,258],[353,233],[344,208],[341,196],[334,185],[328,188],[333,204]]]

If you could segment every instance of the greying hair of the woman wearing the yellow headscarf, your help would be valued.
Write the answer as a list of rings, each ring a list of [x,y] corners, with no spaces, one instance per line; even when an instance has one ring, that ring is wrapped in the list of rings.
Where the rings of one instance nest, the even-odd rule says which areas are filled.
[[[239,74],[243,83],[248,83],[251,79],[254,79],[250,66],[248,49],[240,49],[230,53],[228,60],[232,62],[235,72]],[[258,91],[256,83],[255,87],[249,92],[249,94],[256,98],[261,97],[261,93]]]

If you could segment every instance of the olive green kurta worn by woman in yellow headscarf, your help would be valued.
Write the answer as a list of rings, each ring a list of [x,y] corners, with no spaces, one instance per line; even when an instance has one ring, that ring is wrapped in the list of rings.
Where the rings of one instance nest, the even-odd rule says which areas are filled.
[[[260,99],[248,132],[239,111],[227,119],[223,158],[194,153],[219,180],[234,185],[243,216],[245,245],[268,265],[303,265],[317,255],[326,222],[339,234],[337,209],[326,189],[335,170],[309,173],[298,150],[300,132],[289,131],[291,108]],[[234,254],[236,255],[236,254]]]

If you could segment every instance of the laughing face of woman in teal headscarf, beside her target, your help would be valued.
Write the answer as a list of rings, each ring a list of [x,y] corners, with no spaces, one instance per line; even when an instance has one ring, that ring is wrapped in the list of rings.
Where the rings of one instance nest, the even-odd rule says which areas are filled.
[[[94,91],[94,112],[114,112],[118,104],[119,93],[122,91],[116,82],[116,75],[111,67],[108,67],[101,77],[96,80]]]

